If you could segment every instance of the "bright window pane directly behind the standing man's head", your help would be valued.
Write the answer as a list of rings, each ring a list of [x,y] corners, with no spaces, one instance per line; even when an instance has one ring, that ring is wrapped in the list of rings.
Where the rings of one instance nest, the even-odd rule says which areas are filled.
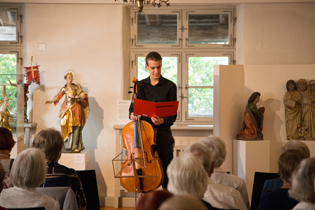
[[[145,57],[138,57],[138,80],[147,78],[149,72],[145,68]],[[163,57],[161,74],[177,85],[177,57]]]

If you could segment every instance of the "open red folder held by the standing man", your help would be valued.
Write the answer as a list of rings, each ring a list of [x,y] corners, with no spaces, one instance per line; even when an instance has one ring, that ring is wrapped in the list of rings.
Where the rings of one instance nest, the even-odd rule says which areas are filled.
[[[151,102],[141,99],[134,99],[133,113],[144,117],[169,117],[176,115],[178,101]]]

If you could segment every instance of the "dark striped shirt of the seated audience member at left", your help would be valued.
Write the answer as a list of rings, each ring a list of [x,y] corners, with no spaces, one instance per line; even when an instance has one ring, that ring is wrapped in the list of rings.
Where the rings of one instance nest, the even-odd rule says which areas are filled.
[[[71,187],[76,196],[79,209],[86,206],[81,180],[72,168],[67,168],[57,162],[47,162],[46,180],[41,187]]]

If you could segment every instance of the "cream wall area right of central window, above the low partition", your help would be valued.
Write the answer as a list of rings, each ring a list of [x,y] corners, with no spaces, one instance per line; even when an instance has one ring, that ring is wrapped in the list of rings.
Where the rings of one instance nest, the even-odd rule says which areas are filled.
[[[315,3],[237,9],[237,64],[315,64]]]

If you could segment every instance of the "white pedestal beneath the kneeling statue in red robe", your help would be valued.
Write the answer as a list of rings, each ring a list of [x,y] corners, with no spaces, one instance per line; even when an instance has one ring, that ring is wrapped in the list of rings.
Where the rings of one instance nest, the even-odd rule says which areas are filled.
[[[270,172],[270,142],[233,140],[233,174],[246,182],[252,195],[255,172]]]

